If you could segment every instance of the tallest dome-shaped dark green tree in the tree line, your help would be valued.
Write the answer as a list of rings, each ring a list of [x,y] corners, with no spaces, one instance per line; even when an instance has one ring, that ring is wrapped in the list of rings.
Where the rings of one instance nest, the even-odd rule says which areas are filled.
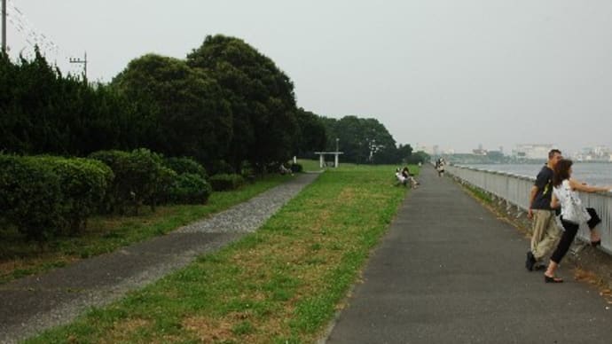
[[[261,169],[291,156],[298,128],[294,84],[271,59],[238,38],[208,35],[187,63],[212,75],[231,102],[234,167],[248,160]]]

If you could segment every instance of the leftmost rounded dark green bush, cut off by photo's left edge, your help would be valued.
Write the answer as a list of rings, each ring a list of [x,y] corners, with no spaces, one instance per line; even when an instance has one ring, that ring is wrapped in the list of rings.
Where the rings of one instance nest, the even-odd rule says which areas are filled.
[[[64,201],[59,176],[39,160],[0,155],[0,211],[27,239],[59,231]]]

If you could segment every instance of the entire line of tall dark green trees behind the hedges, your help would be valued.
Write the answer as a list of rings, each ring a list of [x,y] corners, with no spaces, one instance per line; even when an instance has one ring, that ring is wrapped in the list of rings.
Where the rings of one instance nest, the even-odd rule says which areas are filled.
[[[215,174],[245,161],[263,171],[336,143],[349,162],[426,159],[396,146],[373,118],[297,108],[289,77],[235,37],[209,35],[186,59],[146,54],[109,84],[62,75],[38,50],[32,60],[0,54],[0,152],[86,156],[144,147],[193,157]]]

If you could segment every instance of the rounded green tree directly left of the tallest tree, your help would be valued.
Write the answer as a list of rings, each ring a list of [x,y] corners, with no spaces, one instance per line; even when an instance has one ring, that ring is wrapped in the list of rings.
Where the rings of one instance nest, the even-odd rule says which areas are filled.
[[[129,62],[112,84],[137,107],[141,145],[208,166],[224,159],[232,137],[231,106],[203,70],[147,54]]]

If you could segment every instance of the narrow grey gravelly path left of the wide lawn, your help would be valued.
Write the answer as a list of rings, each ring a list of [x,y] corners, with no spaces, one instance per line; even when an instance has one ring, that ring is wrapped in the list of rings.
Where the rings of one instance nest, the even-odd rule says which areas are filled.
[[[102,306],[153,282],[200,254],[257,230],[318,174],[302,174],[206,220],[77,262],[41,276],[0,285],[0,343],[65,324],[91,306]]]

